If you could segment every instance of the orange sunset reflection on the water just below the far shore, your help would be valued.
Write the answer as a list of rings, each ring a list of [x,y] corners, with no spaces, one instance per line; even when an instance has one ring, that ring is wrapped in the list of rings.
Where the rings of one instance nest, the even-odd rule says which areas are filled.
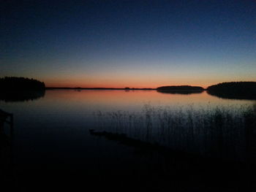
[[[53,90],[46,91],[45,101],[51,104],[62,103],[66,107],[83,107],[87,110],[141,110],[145,104],[152,107],[193,105],[237,105],[252,104],[252,101],[219,99],[203,93],[178,94],[159,93],[157,91],[124,91],[124,90]]]

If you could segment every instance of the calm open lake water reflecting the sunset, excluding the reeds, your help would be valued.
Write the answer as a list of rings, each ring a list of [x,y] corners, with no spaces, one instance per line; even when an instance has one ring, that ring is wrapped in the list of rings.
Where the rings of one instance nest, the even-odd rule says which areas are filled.
[[[111,112],[128,114],[129,117],[131,114],[143,115],[146,107],[154,110],[174,110],[174,112],[179,109],[203,112],[218,107],[230,110],[232,113],[239,112],[242,107],[252,107],[254,104],[255,101],[249,100],[220,99],[206,92],[171,94],[157,91],[49,90],[45,91],[44,96],[31,101],[0,101],[0,109],[14,115],[13,155],[10,169],[15,183],[18,185],[26,185],[26,181],[41,184],[42,182],[62,183],[75,177],[75,183],[81,184],[85,183],[84,180],[88,177],[101,183],[108,180],[108,177],[120,175],[135,178],[139,182],[139,174],[148,174],[154,167],[155,161],[158,163],[164,161],[154,154],[138,155],[134,147],[92,136],[89,133],[91,128],[113,131],[110,129],[111,126],[118,126],[115,124],[117,121],[113,122],[111,119]],[[99,118],[99,114],[103,114],[104,117]],[[127,123],[129,122],[122,120],[121,126],[125,127],[123,131],[127,131],[126,134],[132,136],[132,131],[127,129],[135,126],[127,126]],[[153,125],[156,123],[154,121]],[[4,128],[8,129],[8,125],[4,125]],[[158,133],[154,130],[151,132],[152,137],[154,133]],[[243,160],[245,155],[243,147],[246,145],[243,140],[244,133],[240,130],[238,137],[230,136],[231,134],[226,136],[224,133],[223,138],[233,139],[233,142],[236,142],[234,139],[238,139],[241,142],[238,147],[233,148],[236,149],[238,157],[234,156],[239,161]],[[191,144],[186,136],[176,139],[178,138],[176,135],[173,134],[174,144],[169,141],[174,147],[173,150],[184,150],[184,138],[186,146]],[[178,135],[184,134],[181,132]],[[198,129],[193,135],[195,135],[193,144],[195,141],[199,142],[192,144],[190,152],[200,155],[209,152],[208,145],[210,146],[211,143],[205,138],[209,134],[202,133]],[[199,145],[206,147],[197,147]],[[229,155],[234,153],[233,150],[228,150]],[[149,162],[148,159],[154,161]],[[195,177],[192,174],[189,178],[195,177],[196,180],[200,174],[196,175]],[[56,180],[56,177],[59,179]],[[72,182],[74,183],[74,180]],[[190,179],[187,182],[197,183]],[[205,184],[201,185],[202,183],[197,183],[197,186],[200,185],[205,190],[206,188],[203,187]],[[186,187],[180,185],[176,188],[186,191]]]

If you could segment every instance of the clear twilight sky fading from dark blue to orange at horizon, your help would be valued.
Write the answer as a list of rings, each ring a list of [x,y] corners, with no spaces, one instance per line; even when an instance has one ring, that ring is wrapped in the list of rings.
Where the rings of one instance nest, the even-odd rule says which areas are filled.
[[[89,88],[256,81],[255,0],[0,1],[0,77]]]

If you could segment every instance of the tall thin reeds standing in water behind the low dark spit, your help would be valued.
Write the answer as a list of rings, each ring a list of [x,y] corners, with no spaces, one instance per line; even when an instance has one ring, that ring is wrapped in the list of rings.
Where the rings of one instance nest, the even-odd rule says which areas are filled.
[[[141,112],[99,111],[94,115],[99,131],[127,134],[175,150],[244,160],[248,146],[255,145],[255,106],[173,108],[146,104]]]

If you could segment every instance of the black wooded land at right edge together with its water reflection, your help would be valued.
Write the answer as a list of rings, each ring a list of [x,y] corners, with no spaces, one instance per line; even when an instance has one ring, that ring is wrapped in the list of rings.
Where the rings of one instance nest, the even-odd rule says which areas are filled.
[[[222,82],[209,86],[207,92],[226,99],[256,99],[256,82]]]

